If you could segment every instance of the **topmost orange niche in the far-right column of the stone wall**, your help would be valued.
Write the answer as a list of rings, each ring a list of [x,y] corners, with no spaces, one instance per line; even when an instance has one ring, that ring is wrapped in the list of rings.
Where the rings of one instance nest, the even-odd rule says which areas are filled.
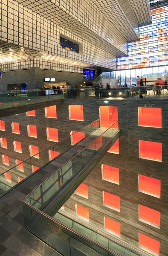
[[[139,126],[162,128],[162,108],[138,108]]]

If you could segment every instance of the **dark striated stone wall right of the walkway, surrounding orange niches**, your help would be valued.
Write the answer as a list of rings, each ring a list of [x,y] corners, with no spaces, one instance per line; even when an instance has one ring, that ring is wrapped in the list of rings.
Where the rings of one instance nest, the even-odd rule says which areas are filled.
[[[68,104],[68,101],[66,101]],[[98,116],[100,105],[118,106],[119,154],[106,153],[101,162],[84,180],[88,185],[88,199],[73,194],[64,204],[66,215],[75,216],[81,224],[87,225],[75,215],[75,204],[89,209],[89,225],[104,230],[104,216],[121,224],[121,236],[110,235],[113,241],[134,247],[141,255],[153,255],[139,248],[139,233],[160,242],[160,255],[168,255],[168,101],[166,100],[84,100],[85,120]],[[162,108],[162,128],[138,126],[138,107]],[[151,140],[162,143],[162,163],[139,159],[139,140]],[[119,185],[102,180],[101,164],[119,168]],[[161,180],[161,198],[146,195],[138,191],[138,175],[152,175]],[[103,205],[103,191],[120,197],[120,212]],[[139,204],[160,212],[160,229],[139,221]],[[100,231],[101,232],[101,231]],[[106,234],[107,235],[107,234]],[[126,245],[127,244],[127,245]],[[115,250],[115,248],[112,248]]]

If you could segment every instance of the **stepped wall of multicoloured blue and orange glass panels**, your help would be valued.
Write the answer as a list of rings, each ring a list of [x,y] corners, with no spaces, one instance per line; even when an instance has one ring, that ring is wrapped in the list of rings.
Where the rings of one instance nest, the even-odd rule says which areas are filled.
[[[128,56],[117,58],[117,69],[168,65],[168,5],[151,10],[152,23],[139,27],[140,41],[127,44]]]

